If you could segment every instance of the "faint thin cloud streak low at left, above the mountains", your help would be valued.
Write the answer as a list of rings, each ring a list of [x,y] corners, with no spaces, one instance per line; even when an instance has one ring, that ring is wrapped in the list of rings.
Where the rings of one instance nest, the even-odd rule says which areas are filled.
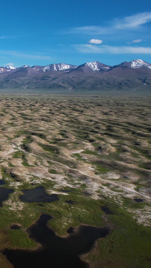
[[[11,55],[18,58],[27,58],[27,59],[35,59],[35,60],[48,60],[51,59],[50,56],[47,55],[37,55],[36,52],[34,53],[25,53],[25,52],[18,52],[18,51],[9,51],[9,50],[0,50],[1,55]]]

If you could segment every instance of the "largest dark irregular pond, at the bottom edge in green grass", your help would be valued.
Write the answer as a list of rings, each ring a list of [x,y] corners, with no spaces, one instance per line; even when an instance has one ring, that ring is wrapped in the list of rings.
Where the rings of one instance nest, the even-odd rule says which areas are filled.
[[[3,253],[15,268],[86,268],[89,265],[80,259],[80,255],[92,249],[95,240],[105,237],[109,230],[93,226],[80,226],[68,237],[59,237],[47,227],[52,217],[42,214],[27,232],[29,237],[42,244],[36,251],[9,250]]]

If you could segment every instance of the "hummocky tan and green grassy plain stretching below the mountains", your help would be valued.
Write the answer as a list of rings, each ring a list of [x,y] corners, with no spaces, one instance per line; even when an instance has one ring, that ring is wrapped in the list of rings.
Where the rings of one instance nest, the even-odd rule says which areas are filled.
[[[13,267],[6,248],[39,248],[26,230],[42,213],[59,237],[70,227],[108,228],[80,256],[91,268],[150,267],[150,100],[1,96],[0,189],[11,191],[0,203],[1,267]],[[23,198],[34,189],[35,199]]]

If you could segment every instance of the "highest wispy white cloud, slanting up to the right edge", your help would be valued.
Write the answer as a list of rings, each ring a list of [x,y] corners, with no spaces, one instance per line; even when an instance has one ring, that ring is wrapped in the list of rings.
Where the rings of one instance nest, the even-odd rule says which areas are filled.
[[[105,26],[84,26],[84,27],[75,27],[70,28],[63,33],[70,34],[115,34],[115,32],[123,29],[135,30],[140,26],[151,21],[151,12],[143,12],[131,15],[129,17],[124,17],[122,19],[115,19],[110,22],[105,22]]]

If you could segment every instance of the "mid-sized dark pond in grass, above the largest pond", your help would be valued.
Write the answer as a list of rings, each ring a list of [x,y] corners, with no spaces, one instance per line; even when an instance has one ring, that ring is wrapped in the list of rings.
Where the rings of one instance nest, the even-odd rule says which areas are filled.
[[[56,194],[47,195],[42,186],[35,189],[22,190],[22,192],[24,195],[20,196],[20,200],[28,203],[50,203],[58,200]]]

